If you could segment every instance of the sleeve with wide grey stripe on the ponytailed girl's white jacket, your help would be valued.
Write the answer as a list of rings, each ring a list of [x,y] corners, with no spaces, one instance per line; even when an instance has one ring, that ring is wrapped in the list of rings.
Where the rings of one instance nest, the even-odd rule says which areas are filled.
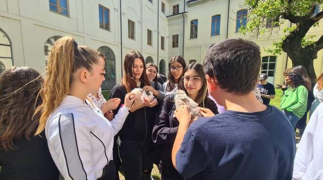
[[[59,166],[67,170],[63,174],[65,180],[96,180],[91,158],[92,138],[84,117],[61,114],[58,127],[62,149],[56,152],[59,153]]]

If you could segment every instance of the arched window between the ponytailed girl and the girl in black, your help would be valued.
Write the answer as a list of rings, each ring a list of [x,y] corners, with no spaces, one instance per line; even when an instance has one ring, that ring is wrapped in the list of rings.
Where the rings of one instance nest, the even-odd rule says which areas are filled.
[[[102,90],[111,90],[115,86],[115,53],[108,46],[101,46],[97,49],[105,58],[105,81],[102,83]]]

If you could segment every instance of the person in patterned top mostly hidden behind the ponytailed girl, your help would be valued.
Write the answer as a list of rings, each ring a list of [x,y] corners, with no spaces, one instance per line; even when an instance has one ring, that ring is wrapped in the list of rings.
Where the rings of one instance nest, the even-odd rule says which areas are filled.
[[[106,58],[103,56],[102,52],[97,51],[97,54],[100,56],[100,59],[103,63],[103,66],[105,67],[105,63],[106,63]],[[99,89],[98,92],[95,93],[90,93],[88,94],[88,99],[90,101],[92,101],[92,103],[99,108],[102,113],[104,114],[104,116],[109,119],[112,120],[113,119],[113,112],[112,110],[115,110],[119,103],[120,103],[120,99],[119,98],[112,98],[109,99],[108,101],[104,98],[103,94],[102,94],[102,90],[101,87]],[[91,105],[91,103],[90,103]]]

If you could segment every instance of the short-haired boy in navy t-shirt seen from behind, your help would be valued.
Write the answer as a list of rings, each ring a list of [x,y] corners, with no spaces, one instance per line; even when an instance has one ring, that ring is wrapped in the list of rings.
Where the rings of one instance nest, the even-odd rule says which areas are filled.
[[[227,111],[191,125],[186,106],[172,150],[178,172],[192,180],[291,180],[295,134],[277,108],[254,96],[260,70],[259,47],[243,39],[212,45],[205,56],[210,95]],[[189,126],[189,128],[188,128]]]

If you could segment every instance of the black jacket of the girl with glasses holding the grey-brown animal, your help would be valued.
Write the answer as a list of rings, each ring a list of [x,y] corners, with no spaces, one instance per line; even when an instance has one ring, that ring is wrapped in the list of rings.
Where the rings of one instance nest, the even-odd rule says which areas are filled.
[[[176,109],[174,97],[174,94],[169,94],[164,98],[160,114],[156,117],[152,133],[153,142],[162,149],[162,174],[170,177],[178,177],[178,172],[174,168],[171,158],[171,152],[179,126],[177,118],[173,117]],[[216,104],[209,98],[206,100],[205,108],[210,109],[214,114],[219,113]]]

